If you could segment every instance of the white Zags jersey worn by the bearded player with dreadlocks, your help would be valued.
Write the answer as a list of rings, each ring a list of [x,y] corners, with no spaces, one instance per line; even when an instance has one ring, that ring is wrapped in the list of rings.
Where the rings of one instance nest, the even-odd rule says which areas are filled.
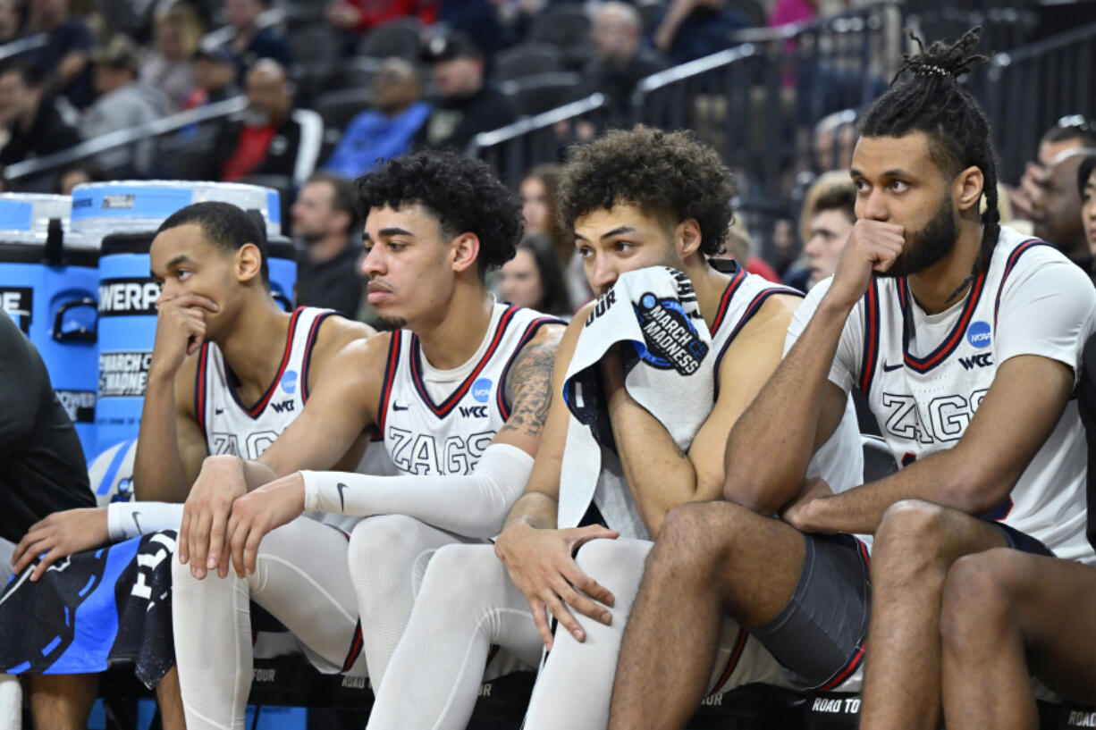
[[[974,278],[966,300],[934,316],[913,310],[917,305],[904,278],[872,281],[850,317],[863,327],[863,338],[852,338],[861,340],[863,346],[855,349],[855,355],[849,351],[849,356],[859,362],[856,384],[900,466],[959,442],[997,372],[1002,304],[1021,296],[1023,283],[1006,284],[1024,282],[1035,267],[1060,261],[1065,259],[1043,241],[1003,227],[989,266]],[[1074,273],[1072,269],[1065,273]],[[913,328],[915,317],[920,331]],[[1011,326],[1015,328],[1016,320]],[[1039,322],[1031,326],[1039,331]],[[911,338],[918,338],[916,345]],[[1048,342],[1047,351],[1035,354],[1052,356],[1051,344],[1059,343]],[[1031,535],[1059,557],[1091,559],[1085,539],[1086,467],[1085,435],[1076,401],[1070,400],[1009,497],[980,516]]]

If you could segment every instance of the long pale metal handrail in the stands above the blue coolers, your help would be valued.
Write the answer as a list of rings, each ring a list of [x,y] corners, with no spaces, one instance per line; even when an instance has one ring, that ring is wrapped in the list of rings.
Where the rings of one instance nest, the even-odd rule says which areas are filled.
[[[247,103],[244,96],[235,96],[222,102],[146,122],[135,127],[118,129],[53,155],[10,164],[4,169],[3,178],[7,183],[16,183],[20,189],[34,189],[35,184],[50,179],[68,166],[89,158],[96,158],[107,168],[109,172],[126,169],[132,166],[139,151],[137,148],[142,145],[151,145],[153,147],[152,159],[159,166],[163,166],[172,152],[193,145],[195,140],[202,140],[202,137],[196,134],[180,135],[176,133],[236,114],[242,111]]]

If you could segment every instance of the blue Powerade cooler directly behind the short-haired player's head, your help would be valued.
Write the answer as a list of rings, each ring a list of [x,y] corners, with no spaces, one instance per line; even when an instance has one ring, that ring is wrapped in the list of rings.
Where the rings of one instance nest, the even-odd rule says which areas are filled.
[[[149,249],[156,229],[171,214],[192,203],[219,201],[256,209],[266,223],[271,289],[283,306],[292,306],[297,280],[293,244],[281,236],[276,191],[255,185],[175,181],[90,183],[72,191],[72,230],[101,242],[99,261],[99,401],[95,411],[98,446],[111,450],[107,460],[129,460],[137,438],[152,343],[156,300],[160,287],[149,274]],[[132,457],[130,457],[132,458]],[[128,484],[127,475],[103,465],[112,478],[94,483],[96,494],[115,484]],[[105,475],[104,475],[105,476]],[[100,499],[129,499],[100,494]]]

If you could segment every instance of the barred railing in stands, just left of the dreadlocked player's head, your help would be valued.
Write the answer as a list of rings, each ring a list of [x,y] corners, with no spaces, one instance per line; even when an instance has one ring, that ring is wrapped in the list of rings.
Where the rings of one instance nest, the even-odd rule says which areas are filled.
[[[712,145],[735,171],[737,210],[764,250],[775,221],[794,217],[795,181],[819,171],[815,124],[886,89],[902,48],[901,18],[888,1],[739,32],[739,45],[641,80],[632,122],[689,128]]]

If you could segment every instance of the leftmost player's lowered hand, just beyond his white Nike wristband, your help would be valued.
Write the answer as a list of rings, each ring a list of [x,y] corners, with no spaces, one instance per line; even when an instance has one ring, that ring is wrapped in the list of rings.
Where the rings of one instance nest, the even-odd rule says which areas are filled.
[[[31,573],[31,580],[36,581],[61,558],[106,545],[109,540],[106,507],[55,512],[26,531],[11,557],[12,569],[18,575],[41,555],[42,560]]]

